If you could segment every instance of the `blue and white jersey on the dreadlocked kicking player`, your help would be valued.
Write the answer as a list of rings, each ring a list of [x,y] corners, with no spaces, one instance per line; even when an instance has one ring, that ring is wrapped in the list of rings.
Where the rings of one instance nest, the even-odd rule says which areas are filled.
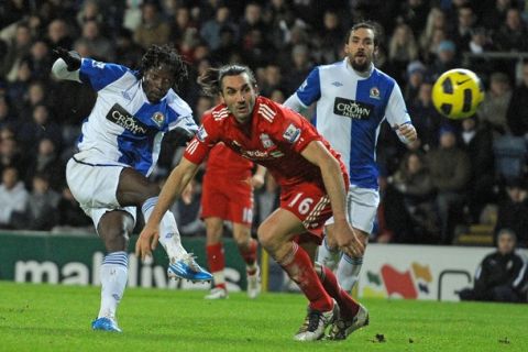
[[[150,103],[136,73],[128,67],[82,58],[79,78],[98,94],[77,144],[76,158],[85,163],[131,166],[147,176],[165,132],[198,130],[193,110],[174,90]]]

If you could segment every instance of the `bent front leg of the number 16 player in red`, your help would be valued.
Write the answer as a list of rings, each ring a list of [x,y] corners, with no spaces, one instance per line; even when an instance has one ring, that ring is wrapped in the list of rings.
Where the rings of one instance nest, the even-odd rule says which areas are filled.
[[[322,223],[321,223],[322,227]],[[307,323],[295,336],[299,341],[321,339],[324,329],[337,316],[337,305],[322,287],[314,268],[315,253],[308,253],[294,237],[305,233],[299,218],[285,209],[277,209],[260,226],[257,235],[261,244],[283,267],[309,300]]]

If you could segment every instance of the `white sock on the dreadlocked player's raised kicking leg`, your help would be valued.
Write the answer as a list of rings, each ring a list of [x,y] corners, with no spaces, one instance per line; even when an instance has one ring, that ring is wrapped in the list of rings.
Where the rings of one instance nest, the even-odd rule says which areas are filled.
[[[157,197],[152,197],[145,200],[141,207],[145,222],[148,221],[152,210],[157,202]],[[163,245],[168,254],[170,262],[182,258],[187,251],[182,245],[176,219],[170,211],[165,212],[160,223],[160,243]]]

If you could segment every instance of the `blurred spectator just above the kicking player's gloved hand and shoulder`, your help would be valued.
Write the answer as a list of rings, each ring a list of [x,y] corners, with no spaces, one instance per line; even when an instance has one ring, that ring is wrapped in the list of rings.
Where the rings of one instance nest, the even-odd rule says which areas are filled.
[[[114,46],[102,35],[100,24],[94,20],[87,20],[82,24],[81,35],[74,45],[79,44],[87,47],[90,57],[105,62],[116,61]]]

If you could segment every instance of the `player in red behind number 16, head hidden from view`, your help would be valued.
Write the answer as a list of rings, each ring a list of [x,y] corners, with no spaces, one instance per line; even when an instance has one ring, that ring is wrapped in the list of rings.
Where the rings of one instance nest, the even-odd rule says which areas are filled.
[[[258,166],[252,176],[253,163],[223,143],[211,148],[207,160],[201,190],[201,218],[206,222],[207,264],[215,284],[206,299],[228,297],[226,257],[223,254],[223,222],[233,224],[233,239],[245,262],[248,296],[255,298],[261,292],[256,251],[258,243],[251,238],[253,221],[253,187],[264,184],[265,168]]]

